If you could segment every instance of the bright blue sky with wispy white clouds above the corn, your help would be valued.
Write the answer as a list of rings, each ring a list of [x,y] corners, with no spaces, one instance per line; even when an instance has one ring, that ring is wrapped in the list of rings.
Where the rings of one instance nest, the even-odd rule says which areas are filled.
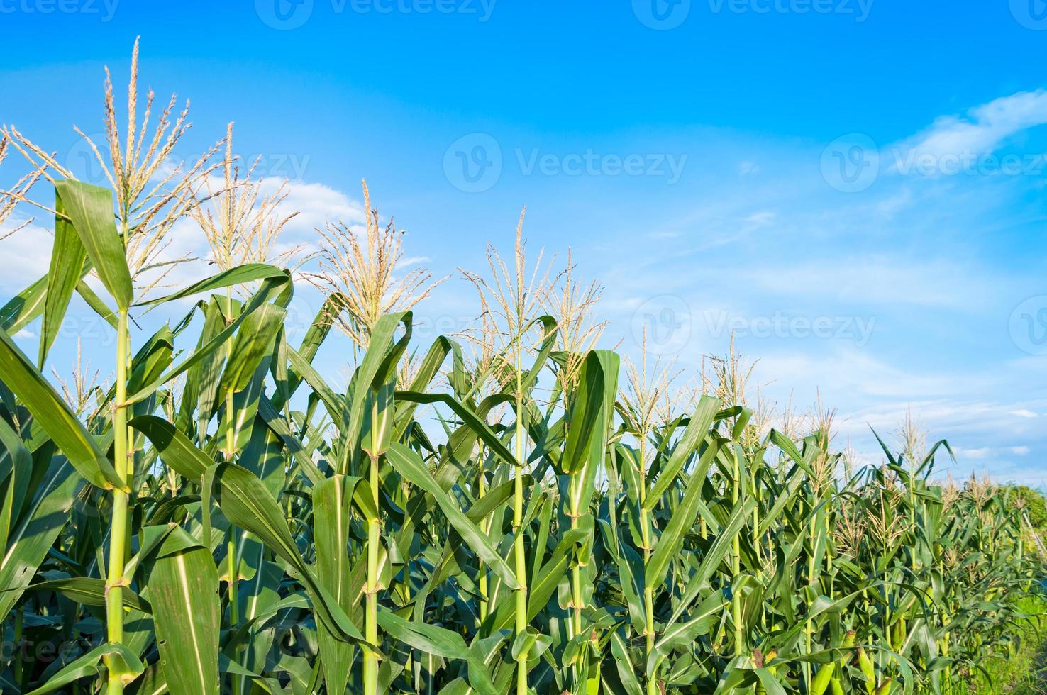
[[[765,396],[839,409],[841,446],[875,461],[869,426],[911,406],[957,475],[1042,487],[1043,4],[0,0],[0,121],[77,165],[72,126],[102,131],[103,67],[121,85],[140,36],[142,86],[192,99],[183,154],[232,120],[291,180],[290,241],[358,221],[366,177],[408,255],[481,269],[526,204],[530,247],[606,287],[623,352],[647,322],[690,367],[734,330]],[[46,269],[46,226],[0,242],[0,295]],[[475,302],[455,278],[421,313]]]

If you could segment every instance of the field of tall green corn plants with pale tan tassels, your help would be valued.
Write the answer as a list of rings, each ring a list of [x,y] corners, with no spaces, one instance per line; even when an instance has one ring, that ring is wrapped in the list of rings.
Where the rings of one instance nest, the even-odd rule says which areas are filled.
[[[597,348],[598,288],[519,228],[464,271],[475,327],[419,344],[440,279],[397,270],[370,196],[308,273],[231,130],[171,169],[174,99],[133,74],[121,132],[106,94],[109,186],[3,135],[30,173],[0,214],[53,220],[0,309],[3,693],[948,694],[1015,649],[1038,539],[1004,489],[940,483],[946,443],[855,468],[829,413],[768,426],[733,360],[674,389]],[[186,220],[211,272],[171,287]],[[73,295],[111,383],[44,374]]]

